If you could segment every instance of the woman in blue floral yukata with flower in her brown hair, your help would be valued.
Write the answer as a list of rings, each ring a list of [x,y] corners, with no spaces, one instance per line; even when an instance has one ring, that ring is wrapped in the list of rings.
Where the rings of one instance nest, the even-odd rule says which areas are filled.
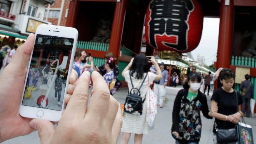
[[[104,60],[107,63],[107,60],[110,58],[114,58],[114,54],[112,52],[108,52],[107,54],[105,54],[104,56]],[[102,76],[104,76],[107,73],[107,70],[105,68],[105,64],[102,64],[102,66],[99,67],[99,69],[97,70]],[[122,85],[122,83],[117,79],[118,78],[118,74],[119,74],[119,68],[118,66],[115,64],[114,68],[113,68],[113,73],[114,73],[114,79],[116,80],[115,86],[112,90],[112,95],[119,89],[119,87]]]

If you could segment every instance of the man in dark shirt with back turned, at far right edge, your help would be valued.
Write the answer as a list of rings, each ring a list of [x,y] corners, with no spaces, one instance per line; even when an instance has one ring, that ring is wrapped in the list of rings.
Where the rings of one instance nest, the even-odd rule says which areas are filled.
[[[250,100],[251,98],[254,97],[254,88],[253,88],[253,84],[251,83],[251,81],[249,80],[251,78],[250,75],[246,74],[245,76],[245,80],[242,81],[239,89],[242,91],[243,88],[245,88],[247,90],[247,92],[244,94],[243,98],[243,104],[242,104],[242,112],[245,112],[245,104],[247,104],[247,110],[246,110],[246,116],[247,118],[250,117]],[[245,113],[244,113],[245,115]]]

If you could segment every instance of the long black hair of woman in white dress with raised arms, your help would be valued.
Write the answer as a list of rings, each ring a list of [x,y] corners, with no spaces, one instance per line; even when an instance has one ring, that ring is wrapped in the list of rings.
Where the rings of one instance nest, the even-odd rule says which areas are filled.
[[[144,54],[137,54],[133,59],[133,64],[130,68],[130,74],[133,76],[136,73],[135,78],[142,79],[144,73],[147,73],[148,61]]]

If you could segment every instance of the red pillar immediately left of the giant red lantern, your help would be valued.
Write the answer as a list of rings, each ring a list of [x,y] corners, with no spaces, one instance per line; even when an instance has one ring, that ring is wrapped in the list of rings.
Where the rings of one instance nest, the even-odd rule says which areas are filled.
[[[123,24],[126,15],[127,0],[116,2],[114,19],[109,42],[109,52],[112,52],[116,58],[119,56],[120,45],[123,34]]]

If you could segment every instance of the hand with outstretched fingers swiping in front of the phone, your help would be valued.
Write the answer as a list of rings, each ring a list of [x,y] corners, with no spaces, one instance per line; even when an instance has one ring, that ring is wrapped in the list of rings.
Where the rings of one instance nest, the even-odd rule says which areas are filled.
[[[121,108],[110,95],[103,77],[96,71],[92,72],[94,90],[88,108],[90,73],[85,71],[78,80],[73,73],[71,77],[71,83],[77,85],[69,85],[68,90],[74,90],[70,99],[65,97],[68,105],[56,130],[47,120],[34,119],[30,123],[38,130],[41,143],[116,144],[122,127]]]

